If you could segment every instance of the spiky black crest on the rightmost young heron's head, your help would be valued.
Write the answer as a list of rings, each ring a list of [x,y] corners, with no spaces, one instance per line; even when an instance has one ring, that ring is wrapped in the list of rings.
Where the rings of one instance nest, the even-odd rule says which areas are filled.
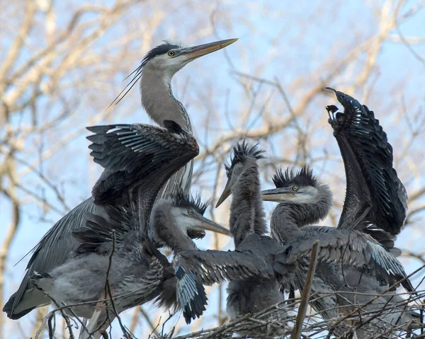
[[[295,168],[286,168],[285,171],[282,168],[278,169],[274,174],[273,183],[276,188],[287,187],[290,185],[297,186],[313,186],[317,185],[317,178],[313,174],[313,170],[304,165],[300,170],[295,170]]]

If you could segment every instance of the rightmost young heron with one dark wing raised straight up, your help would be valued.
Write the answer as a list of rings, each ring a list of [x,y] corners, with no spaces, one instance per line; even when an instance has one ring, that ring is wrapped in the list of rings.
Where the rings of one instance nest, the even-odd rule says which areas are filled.
[[[278,171],[273,177],[276,189],[263,191],[263,200],[280,202],[272,214],[271,232],[280,243],[292,244],[295,251],[291,255],[307,252],[313,241],[320,241],[312,291],[325,293],[310,304],[327,320],[349,314],[406,277],[395,258],[400,252],[393,239],[406,215],[407,195],[392,168],[392,147],[373,113],[357,100],[336,93],[345,111],[329,122],[340,145],[347,178],[338,227],[308,226],[326,217],[331,207],[329,188],[308,168],[297,173]],[[336,111],[334,106],[328,109]],[[307,263],[299,264],[295,287],[302,289]],[[408,279],[402,285],[414,292]],[[336,291],[341,293],[332,293]],[[385,306],[392,311],[375,318],[373,314],[365,316],[363,320],[370,318],[370,323],[358,329],[359,338],[371,338],[371,333],[412,322],[416,314],[403,312],[400,304],[401,297],[386,292],[365,306],[365,312]]]

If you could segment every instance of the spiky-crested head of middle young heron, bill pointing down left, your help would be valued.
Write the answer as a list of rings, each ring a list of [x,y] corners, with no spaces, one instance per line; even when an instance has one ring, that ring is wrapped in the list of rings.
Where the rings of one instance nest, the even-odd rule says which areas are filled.
[[[252,145],[244,140],[233,147],[232,159],[230,163],[225,163],[227,183],[215,207],[219,207],[232,194],[232,188],[244,172],[249,160],[257,161],[263,158],[263,151],[259,149],[258,144]]]

